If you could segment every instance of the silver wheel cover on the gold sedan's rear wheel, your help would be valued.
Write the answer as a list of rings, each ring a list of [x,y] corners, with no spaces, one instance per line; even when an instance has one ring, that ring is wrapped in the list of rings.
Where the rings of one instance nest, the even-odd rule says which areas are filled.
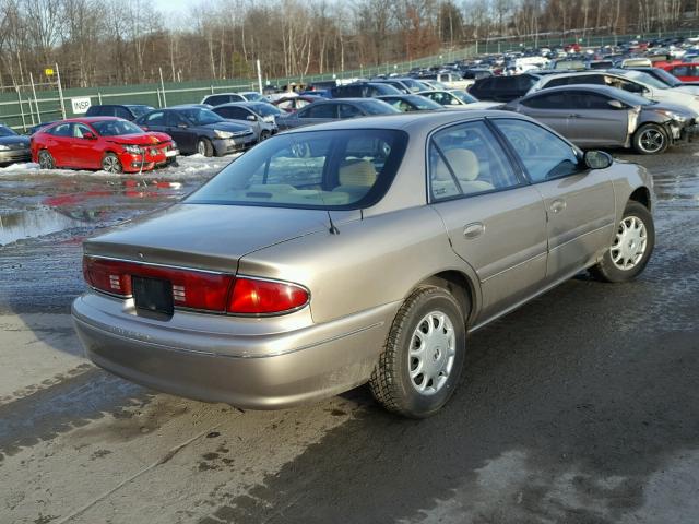
[[[447,313],[431,311],[423,317],[410,345],[411,384],[422,395],[434,395],[447,383],[457,355],[457,335]]]

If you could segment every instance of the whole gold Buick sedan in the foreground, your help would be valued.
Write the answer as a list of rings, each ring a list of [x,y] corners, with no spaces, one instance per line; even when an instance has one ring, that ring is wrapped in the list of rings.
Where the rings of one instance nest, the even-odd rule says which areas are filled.
[[[651,177],[500,111],[345,120],[262,142],[182,202],[85,241],[88,357],[156,390],[282,408],[368,382],[426,417],[466,335],[654,245]]]

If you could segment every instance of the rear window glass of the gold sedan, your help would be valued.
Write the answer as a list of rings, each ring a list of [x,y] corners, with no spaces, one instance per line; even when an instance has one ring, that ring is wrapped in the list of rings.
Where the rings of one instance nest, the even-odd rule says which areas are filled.
[[[388,190],[403,158],[403,131],[305,131],[265,140],[187,203],[359,209]]]

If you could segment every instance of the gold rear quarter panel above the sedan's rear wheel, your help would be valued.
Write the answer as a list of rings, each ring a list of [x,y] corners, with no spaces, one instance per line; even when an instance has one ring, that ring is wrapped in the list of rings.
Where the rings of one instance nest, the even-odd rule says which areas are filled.
[[[451,249],[441,218],[426,205],[339,228],[337,235],[323,230],[248,254],[238,273],[305,285],[317,323],[402,301],[441,271],[460,271],[477,282]],[[479,302],[479,290],[473,301]]]

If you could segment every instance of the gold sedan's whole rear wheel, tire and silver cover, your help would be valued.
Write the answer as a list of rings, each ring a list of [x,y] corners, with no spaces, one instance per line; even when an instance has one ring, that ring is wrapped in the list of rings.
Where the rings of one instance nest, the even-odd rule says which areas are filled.
[[[437,413],[464,361],[465,314],[440,287],[423,287],[399,310],[369,385],[387,409],[411,418]]]

